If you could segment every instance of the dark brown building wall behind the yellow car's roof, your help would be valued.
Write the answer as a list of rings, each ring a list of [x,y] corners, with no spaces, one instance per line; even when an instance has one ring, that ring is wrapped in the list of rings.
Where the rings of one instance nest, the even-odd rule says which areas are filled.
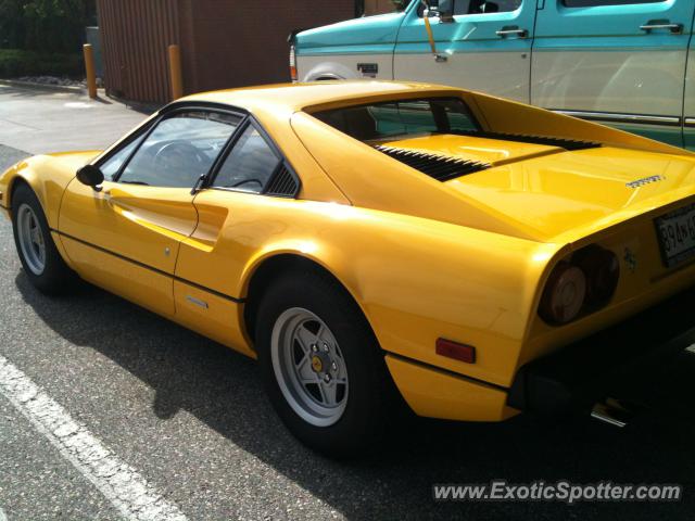
[[[166,48],[187,93],[289,80],[287,37],[354,16],[354,0],[98,0],[112,93],[168,101]]]

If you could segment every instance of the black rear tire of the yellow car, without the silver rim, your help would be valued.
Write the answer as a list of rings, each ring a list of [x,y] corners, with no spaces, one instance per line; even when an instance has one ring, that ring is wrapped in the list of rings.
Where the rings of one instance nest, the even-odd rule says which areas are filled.
[[[288,309],[304,308],[330,329],[345,361],[350,391],[340,419],[316,427],[302,419],[286,399],[271,359],[273,329]],[[328,274],[286,274],[263,295],[256,320],[256,347],[263,383],[288,429],[309,448],[330,457],[365,455],[377,449],[403,401],[387,369],[384,354],[351,295]]]

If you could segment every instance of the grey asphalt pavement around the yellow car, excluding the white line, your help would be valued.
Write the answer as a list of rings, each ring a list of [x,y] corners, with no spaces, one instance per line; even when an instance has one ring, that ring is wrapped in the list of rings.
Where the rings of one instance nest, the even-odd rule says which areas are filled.
[[[64,117],[76,110],[62,99],[37,98],[37,110],[48,103],[55,117],[61,103]],[[0,90],[0,119],[22,122],[7,101]],[[108,115],[123,126],[142,117],[122,105],[106,107],[125,114]],[[99,107],[90,111],[89,117],[101,117]],[[101,142],[76,130],[67,148],[103,147],[121,134],[115,127],[103,131]],[[2,132],[0,169],[63,139],[31,144],[30,137]],[[89,147],[81,147],[83,138],[92,139]],[[624,429],[586,417],[520,416],[497,424],[418,420],[376,456],[332,461],[287,432],[252,360],[86,283],[65,297],[38,293],[4,219],[0,296],[0,358],[190,520],[693,519],[693,353],[655,368],[639,387],[620,390],[645,404]],[[0,364],[0,383],[2,367],[9,366]],[[678,483],[685,495],[670,504],[574,506],[431,498],[435,483],[493,479]],[[0,519],[2,512],[11,521],[123,517],[117,498],[98,485],[21,402],[0,393]]]

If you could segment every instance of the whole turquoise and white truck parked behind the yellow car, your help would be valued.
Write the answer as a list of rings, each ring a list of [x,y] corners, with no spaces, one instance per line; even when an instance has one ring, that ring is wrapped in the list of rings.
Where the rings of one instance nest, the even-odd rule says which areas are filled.
[[[695,149],[694,0],[405,3],[293,35],[294,79],[454,85]]]

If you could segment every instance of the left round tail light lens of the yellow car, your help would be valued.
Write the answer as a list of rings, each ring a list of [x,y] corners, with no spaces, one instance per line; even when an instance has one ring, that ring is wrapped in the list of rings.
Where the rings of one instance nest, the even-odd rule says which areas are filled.
[[[586,297],[586,276],[577,266],[563,260],[545,283],[539,314],[551,323],[567,323],[579,315]]]

